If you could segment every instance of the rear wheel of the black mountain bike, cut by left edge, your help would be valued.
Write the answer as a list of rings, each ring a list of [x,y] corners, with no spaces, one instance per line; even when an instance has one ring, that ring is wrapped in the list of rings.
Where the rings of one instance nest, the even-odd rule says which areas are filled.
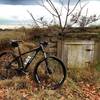
[[[10,51],[0,53],[0,79],[9,79],[15,76],[19,61],[16,55]],[[11,63],[12,62],[12,63]]]

